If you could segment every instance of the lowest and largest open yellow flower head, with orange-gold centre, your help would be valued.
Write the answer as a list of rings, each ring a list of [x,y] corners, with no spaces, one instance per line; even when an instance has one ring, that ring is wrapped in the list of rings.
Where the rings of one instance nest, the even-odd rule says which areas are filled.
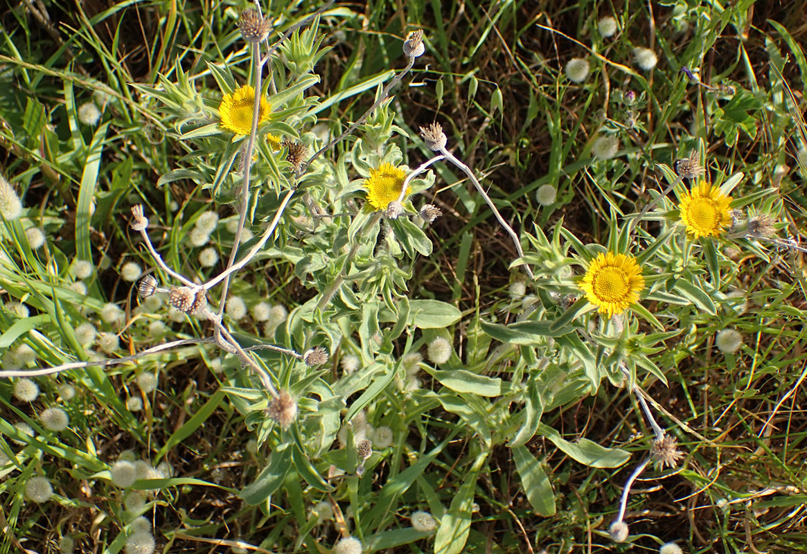
[[[638,302],[645,279],[633,256],[600,253],[588,266],[580,288],[588,302],[600,309],[600,314],[607,313],[611,317]]]

